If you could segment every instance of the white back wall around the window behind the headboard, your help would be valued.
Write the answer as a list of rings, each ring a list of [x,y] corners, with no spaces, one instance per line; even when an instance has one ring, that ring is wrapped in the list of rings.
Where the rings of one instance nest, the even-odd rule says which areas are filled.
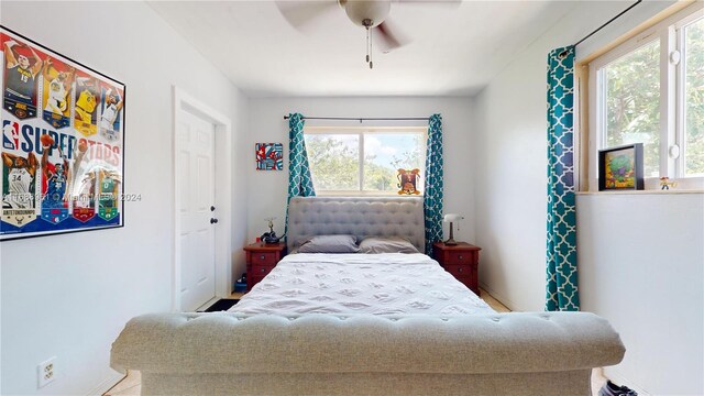
[[[444,142],[444,209],[465,217],[455,232],[455,240],[474,241],[474,164],[471,135],[471,99],[469,98],[264,98],[250,100],[250,128],[246,134],[249,239],[251,242],[264,231],[264,218],[276,216],[275,231],[284,232],[288,168],[284,172],[257,172],[254,161],[256,142],[284,144],[284,163],[288,164],[288,121],[284,116],[300,112],[309,117],[429,117],[442,114]],[[369,123],[369,122],[367,122]],[[343,123],[309,120],[307,125],[359,125],[359,121]],[[374,124],[369,123],[369,124]],[[398,124],[398,123],[382,123]],[[404,125],[427,125],[426,122],[405,122]],[[446,234],[447,234],[446,228]]]

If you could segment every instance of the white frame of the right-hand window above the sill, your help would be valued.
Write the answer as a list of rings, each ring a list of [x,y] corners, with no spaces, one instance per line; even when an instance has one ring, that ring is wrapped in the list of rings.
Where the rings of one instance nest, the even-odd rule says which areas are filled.
[[[704,189],[704,176],[684,176],[684,57],[674,65],[670,55],[684,43],[684,28],[704,16],[704,10],[696,4],[675,13],[660,23],[645,30],[614,50],[590,63],[588,90],[588,179],[590,189],[598,186],[598,150],[606,141],[605,103],[603,103],[604,67],[629,53],[652,43],[660,42],[660,176],[678,182],[678,189]],[[667,142],[667,143],[663,143]],[[669,154],[680,150],[678,157]],[[659,177],[645,177],[646,189],[659,189]]]

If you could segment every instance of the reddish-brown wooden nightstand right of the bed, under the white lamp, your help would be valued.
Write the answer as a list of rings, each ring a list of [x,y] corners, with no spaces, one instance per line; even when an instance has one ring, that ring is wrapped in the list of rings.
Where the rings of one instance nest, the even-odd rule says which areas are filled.
[[[482,249],[465,242],[446,245],[442,242],[432,244],[432,254],[444,271],[462,282],[475,295],[480,295],[479,264]]]

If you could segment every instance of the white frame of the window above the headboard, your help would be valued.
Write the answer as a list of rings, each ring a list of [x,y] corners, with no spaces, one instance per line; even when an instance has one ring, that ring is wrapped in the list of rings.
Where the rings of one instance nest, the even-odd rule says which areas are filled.
[[[344,134],[359,136],[359,173],[360,173],[360,188],[355,190],[316,190],[318,196],[397,196],[396,191],[372,191],[364,190],[364,134],[419,134],[424,142],[422,150],[422,164],[425,177],[425,164],[427,155],[428,144],[428,128],[427,127],[304,127],[304,136],[312,134]],[[304,138],[305,139],[305,138]],[[315,179],[315,175],[311,175]],[[422,183],[422,178],[420,179]],[[420,196],[424,195],[421,191]]]

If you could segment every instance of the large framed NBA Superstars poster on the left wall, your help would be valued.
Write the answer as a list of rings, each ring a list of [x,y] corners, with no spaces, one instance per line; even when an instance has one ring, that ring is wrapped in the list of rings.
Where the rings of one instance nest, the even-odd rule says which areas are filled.
[[[122,227],[125,86],[0,26],[0,241]]]

